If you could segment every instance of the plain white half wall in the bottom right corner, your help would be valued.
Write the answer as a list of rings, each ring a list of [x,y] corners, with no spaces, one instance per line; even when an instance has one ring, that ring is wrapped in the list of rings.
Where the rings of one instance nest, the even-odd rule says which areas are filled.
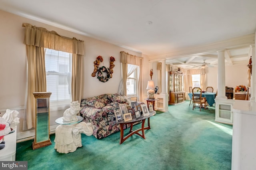
[[[232,136],[232,170],[255,170],[256,167],[256,105],[235,100]]]

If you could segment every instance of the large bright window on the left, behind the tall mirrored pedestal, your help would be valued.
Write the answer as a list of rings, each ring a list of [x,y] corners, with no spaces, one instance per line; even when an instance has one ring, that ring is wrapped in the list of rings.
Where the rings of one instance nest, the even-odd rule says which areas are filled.
[[[72,54],[45,48],[46,86],[52,92],[50,104],[71,101]]]

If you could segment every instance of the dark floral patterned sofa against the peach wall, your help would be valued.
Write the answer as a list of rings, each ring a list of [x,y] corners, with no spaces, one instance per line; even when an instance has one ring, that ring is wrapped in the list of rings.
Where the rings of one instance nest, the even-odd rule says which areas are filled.
[[[114,110],[119,109],[119,104],[122,103],[131,105],[131,100],[119,94],[103,94],[82,99],[80,115],[84,122],[92,123],[93,136],[104,138],[120,130],[119,123],[115,122]]]

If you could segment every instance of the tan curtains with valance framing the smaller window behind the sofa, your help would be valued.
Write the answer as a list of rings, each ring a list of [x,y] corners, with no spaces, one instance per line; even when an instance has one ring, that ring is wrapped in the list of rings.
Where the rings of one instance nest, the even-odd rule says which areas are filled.
[[[136,55],[131,55],[125,51],[121,51],[120,61],[122,63],[122,80],[119,85],[118,93],[121,95],[127,96],[126,91],[126,80],[128,77],[128,64],[139,66],[139,75],[138,75],[138,88],[137,88],[137,101],[142,99],[143,95],[141,92],[142,89],[142,63],[143,58],[137,57]],[[131,73],[131,72],[130,72]]]

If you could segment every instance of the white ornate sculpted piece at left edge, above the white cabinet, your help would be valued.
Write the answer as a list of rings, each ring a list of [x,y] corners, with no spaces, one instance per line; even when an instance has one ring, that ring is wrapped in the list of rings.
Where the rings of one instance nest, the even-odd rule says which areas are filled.
[[[11,111],[10,109],[6,109],[6,113],[2,116],[6,120],[6,122],[10,123],[10,128],[14,129],[19,123],[20,118],[18,118],[18,111]]]

